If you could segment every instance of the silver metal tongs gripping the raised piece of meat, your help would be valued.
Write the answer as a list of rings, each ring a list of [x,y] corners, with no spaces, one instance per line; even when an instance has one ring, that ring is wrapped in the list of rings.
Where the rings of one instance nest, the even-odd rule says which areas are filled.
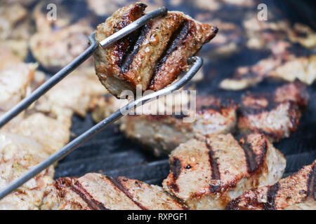
[[[13,109],[5,113],[4,116],[0,118],[0,128],[6,125],[6,123],[8,123],[11,119],[17,116],[20,112],[27,109],[29,105],[31,105],[33,102],[39,99],[39,97],[41,97],[48,90],[50,90],[51,87],[60,82],[62,78],[65,78],[71,71],[76,69],[77,66],[79,66],[86,59],[88,59],[88,57],[90,57],[93,54],[93,52],[98,48],[98,44],[100,44],[103,48],[106,48],[107,46],[118,41],[124,36],[131,34],[131,32],[135,31],[136,29],[142,27],[153,18],[156,18],[159,15],[166,15],[167,12],[167,8],[163,7],[154,10],[150,13],[147,13],[135,22],[132,22],[130,25],[112,34],[112,36],[109,36],[105,38],[105,40],[100,41],[100,43],[96,41],[94,36],[95,32],[93,32],[93,34],[89,36],[89,41],[91,45],[81,55],[74,59],[73,62],[67,64],[67,66],[65,66],[63,69],[58,71],[58,73],[55,73],[54,76],[47,80],[46,83],[38,87],[37,90],[34,90],[34,92],[32,92],[32,94],[30,94],[29,97],[23,99],[18,105],[14,106]],[[145,104],[151,99],[157,99],[157,97],[162,97],[166,94],[170,94],[170,92],[173,92],[174,90],[178,90],[180,87],[183,87],[186,83],[188,83],[191,80],[193,76],[195,76],[195,73],[197,73],[197,71],[201,68],[203,61],[201,57],[190,57],[188,63],[192,65],[191,68],[176,83],[173,83],[172,85],[169,85],[162,90],[153,92],[151,94],[147,94],[144,97],[136,99],[133,102],[130,102],[129,104],[124,106],[123,108],[119,109],[118,111],[112,113],[110,116],[105,118],[105,120],[91,127],[91,129],[87,130],[76,139],[70,141],[70,143],[64,146],[62,149],[60,149],[60,151],[54,153],[49,158],[35,166],[33,169],[30,169],[24,175],[20,176],[18,179],[11,182],[8,186],[6,186],[6,188],[0,191],[0,200],[6,195],[13,192],[13,190],[22,186],[25,182],[29,181],[29,179],[32,179],[34,176],[37,176],[37,174],[39,174],[47,167],[53,165],[55,162],[58,162],[59,160],[62,160],[62,158],[65,158],[66,155],[72,153],[72,151],[81,146],[81,144],[84,144],[84,142],[91,139],[94,135],[98,134],[98,132],[105,129],[105,127],[114,123],[115,120],[118,120],[119,118],[124,116],[124,114],[126,113],[122,113],[122,111],[132,111],[133,109],[136,109],[136,107]]]

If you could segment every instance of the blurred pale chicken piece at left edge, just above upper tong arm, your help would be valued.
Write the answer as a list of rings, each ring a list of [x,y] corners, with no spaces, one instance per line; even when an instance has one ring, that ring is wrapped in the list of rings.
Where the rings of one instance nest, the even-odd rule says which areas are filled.
[[[18,104],[32,82],[36,64],[15,64],[0,70],[0,113]]]

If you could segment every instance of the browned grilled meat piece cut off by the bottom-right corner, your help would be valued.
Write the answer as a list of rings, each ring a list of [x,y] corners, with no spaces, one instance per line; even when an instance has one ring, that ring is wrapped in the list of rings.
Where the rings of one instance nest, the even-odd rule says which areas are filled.
[[[303,167],[273,186],[247,190],[232,200],[226,209],[232,210],[315,210],[316,161]]]

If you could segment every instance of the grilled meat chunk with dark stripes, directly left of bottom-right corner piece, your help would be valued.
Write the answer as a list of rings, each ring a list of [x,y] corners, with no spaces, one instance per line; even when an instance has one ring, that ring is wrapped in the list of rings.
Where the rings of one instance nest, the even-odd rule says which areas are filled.
[[[225,209],[244,191],[274,184],[286,160],[262,134],[235,139],[231,134],[191,139],[171,152],[164,190],[189,209]]]

